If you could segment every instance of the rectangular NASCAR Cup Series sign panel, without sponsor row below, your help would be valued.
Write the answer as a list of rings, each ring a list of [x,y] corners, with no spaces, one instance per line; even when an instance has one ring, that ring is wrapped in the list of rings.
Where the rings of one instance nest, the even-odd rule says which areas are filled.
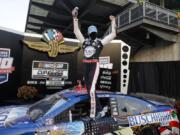
[[[65,62],[33,61],[32,79],[66,80],[69,64]]]

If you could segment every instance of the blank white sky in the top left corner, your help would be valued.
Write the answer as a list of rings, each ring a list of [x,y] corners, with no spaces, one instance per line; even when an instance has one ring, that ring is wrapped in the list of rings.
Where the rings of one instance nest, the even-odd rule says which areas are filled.
[[[0,27],[24,32],[29,0],[0,0]]]

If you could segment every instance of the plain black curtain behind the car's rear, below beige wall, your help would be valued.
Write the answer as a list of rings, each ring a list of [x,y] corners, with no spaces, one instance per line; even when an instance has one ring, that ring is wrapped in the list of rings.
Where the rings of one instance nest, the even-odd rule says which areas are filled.
[[[180,98],[180,62],[130,63],[130,92]]]

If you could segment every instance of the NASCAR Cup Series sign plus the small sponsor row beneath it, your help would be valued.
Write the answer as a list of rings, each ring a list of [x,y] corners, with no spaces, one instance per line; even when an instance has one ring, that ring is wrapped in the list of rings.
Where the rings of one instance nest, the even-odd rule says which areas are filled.
[[[66,81],[69,77],[69,63],[36,61],[32,63],[32,79],[28,85],[45,85],[47,89],[61,89],[65,85],[72,85]]]

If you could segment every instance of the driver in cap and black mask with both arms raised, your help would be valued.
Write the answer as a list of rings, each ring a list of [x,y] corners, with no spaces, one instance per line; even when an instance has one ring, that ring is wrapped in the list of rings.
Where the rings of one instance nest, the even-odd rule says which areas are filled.
[[[76,38],[82,43],[83,49],[83,63],[84,63],[84,78],[87,91],[91,98],[91,110],[90,117],[95,118],[98,112],[99,101],[96,98],[96,82],[99,75],[99,63],[98,58],[103,49],[104,45],[110,43],[116,37],[116,22],[114,16],[109,16],[111,20],[112,31],[109,35],[104,37],[102,40],[97,38],[98,30],[96,26],[91,25],[88,27],[88,38],[85,39],[82,35],[78,26],[78,7],[75,7],[72,11],[73,24],[74,24],[74,34]],[[97,103],[97,106],[96,106]],[[96,112],[97,109],[97,112]]]

